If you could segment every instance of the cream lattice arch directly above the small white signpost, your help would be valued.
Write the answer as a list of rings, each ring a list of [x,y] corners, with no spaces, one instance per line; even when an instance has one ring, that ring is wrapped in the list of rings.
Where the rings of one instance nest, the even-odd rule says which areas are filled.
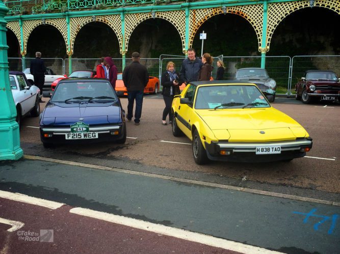
[[[255,30],[258,48],[260,48],[263,31],[263,5],[231,6],[227,7],[225,12],[226,14],[231,13],[239,15],[249,21]],[[219,14],[223,14],[222,8],[197,9],[190,11],[189,47],[192,46],[198,28],[207,19]]]

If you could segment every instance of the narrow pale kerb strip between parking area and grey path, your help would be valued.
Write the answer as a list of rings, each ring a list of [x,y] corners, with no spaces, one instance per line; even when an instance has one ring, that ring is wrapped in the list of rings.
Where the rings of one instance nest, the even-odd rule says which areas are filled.
[[[299,197],[299,196],[294,196],[294,195],[289,195],[289,194],[267,192],[266,190],[237,187],[237,186],[225,185],[225,184],[219,184],[219,183],[212,183],[212,182],[203,182],[203,181],[179,178],[179,177],[174,177],[174,176],[157,175],[157,174],[151,174],[151,173],[145,173],[145,172],[139,172],[139,171],[133,171],[133,170],[91,165],[91,164],[86,164],[86,163],[62,161],[62,160],[56,160],[56,159],[53,159],[53,158],[45,158],[45,157],[39,157],[39,156],[34,156],[34,155],[28,155],[28,154],[25,154],[24,158],[27,158],[28,160],[40,160],[40,161],[45,161],[45,162],[61,163],[61,164],[65,164],[65,165],[74,165],[74,166],[90,168],[90,169],[108,170],[108,171],[114,171],[114,172],[125,173],[125,174],[141,175],[141,176],[146,176],[146,177],[160,178],[160,179],[177,181],[177,182],[185,182],[185,183],[198,184],[198,185],[203,185],[203,186],[211,186],[211,187],[214,187],[214,188],[239,190],[240,192],[254,193],[254,194],[271,196],[271,197],[279,197],[279,198],[283,198],[283,199],[292,199],[292,200],[299,200],[299,201],[305,201],[305,202],[311,202],[311,203],[340,206],[340,202],[335,202],[335,201]]]

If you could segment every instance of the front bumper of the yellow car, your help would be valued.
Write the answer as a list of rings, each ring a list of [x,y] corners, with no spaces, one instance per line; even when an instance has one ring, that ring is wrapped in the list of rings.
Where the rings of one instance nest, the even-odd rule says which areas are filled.
[[[205,142],[205,150],[208,158],[212,161],[225,162],[272,162],[285,161],[299,158],[306,155],[305,148],[311,149],[312,139],[298,139],[292,141],[281,142],[212,142],[207,144]],[[256,154],[256,146],[280,146],[281,153],[275,154]],[[228,155],[221,155],[220,151],[227,151]]]

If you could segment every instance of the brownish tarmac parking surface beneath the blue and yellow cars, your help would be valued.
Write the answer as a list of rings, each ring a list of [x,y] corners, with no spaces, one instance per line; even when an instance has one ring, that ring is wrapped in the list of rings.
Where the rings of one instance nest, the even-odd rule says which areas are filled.
[[[126,109],[127,99],[121,98],[121,102]],[[45,104],[40,105],[42,110]],[[161,124],[164,109],[161,94],[144,97],[141,124],[136,126],[133,121],[127,122],[128,138],[124,145],[101,143],[44,149],[37,128],[38,118],[27,117],[22,121],[21,147],[25,154],[190,178],[207,177],[206,181],[224,181],[238,186],[262,189],[274,186],[278,192],[294,194],[320,190],[320,195],[325,192],[324,198],[328,196],[328,199],[334,200],[334,196],[326,193],[340,193],[340,105],[305,105],[293,98],[276,98],[273,106],[296,119],[313,138],[313,147],[306,157],[290,163],[211,162],[204,166],[196,165],[191,141],[186,137],[173,137],[171,125]],[[284,186],[296,188],[283,190]]]

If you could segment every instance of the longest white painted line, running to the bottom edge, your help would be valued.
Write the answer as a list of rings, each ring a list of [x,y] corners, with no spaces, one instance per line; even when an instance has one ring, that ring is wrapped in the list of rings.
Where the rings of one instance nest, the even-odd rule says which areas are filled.
[[[164,226],[161,224],[150,223],[148,221],[144,221],[140,219],[128,218],[125,216],[110,214],[106,212],[98,212],[98,211],[85,209],[81,207],[72,208],[70,212],[83,215],[83,216],[88,216],[91,218],[109,221],[111,223],[116,223],[116,224],[124,225],[127,227],[132,227],[132,228],[141,229],[141,230],[145,230],[145,231],[149,231],[153,233],[172,236],[172,237],[176,237],[179,239],[184,239],[184,240],[188,240],[192,242],[197,242],[197,243],[206,244],[206,245],[210,245],[210,246],[214,246],[218,248],[224,248],[224,249],[233,250],[233,251],[238,251],[242,253],[281,253],[277,251],[268,250],[265,248],[247,245],[244,243],[217,238],[211,235],[191,232],[191,231],[187,231],[184,229],[172,228],[172,227]]]

